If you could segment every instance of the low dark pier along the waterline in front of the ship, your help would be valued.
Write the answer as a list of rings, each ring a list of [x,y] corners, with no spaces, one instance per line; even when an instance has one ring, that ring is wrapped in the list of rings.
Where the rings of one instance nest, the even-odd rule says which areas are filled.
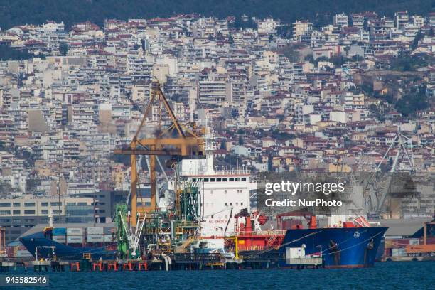
[[[317,269],[323,267],[321,257],[283,259],[278,254],[247,253],[240,257],[225,257],[220,253],[161,254],[151,259],[79,261],[33,260],[30,262],[1,262],[0,271],[14,271],[17,267],[33,269],[33,272],[146,272],[209,269]]]

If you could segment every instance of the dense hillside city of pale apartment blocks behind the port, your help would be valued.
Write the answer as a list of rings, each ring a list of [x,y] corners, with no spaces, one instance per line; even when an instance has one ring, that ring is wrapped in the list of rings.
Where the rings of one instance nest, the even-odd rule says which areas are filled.
[[[0,30],[6,239],[50,213],[112,221],[131,171],[113,151],[136,133],[153,80],[181,124],[213,119],[222,168],[350,174],[383,161],[389,171],[397,151],[382,157],[400,133],[412,139],[412,170],[434,173],[434,32],[435,13],[407,11],[337,14],[322,27],[190,14]],[[410,211],[434,215],[434,202],[431,190]]]

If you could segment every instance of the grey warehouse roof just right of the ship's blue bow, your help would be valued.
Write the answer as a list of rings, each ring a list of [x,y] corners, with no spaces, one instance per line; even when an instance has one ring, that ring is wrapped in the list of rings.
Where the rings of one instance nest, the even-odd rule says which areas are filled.
[[[430,222],[433,218],[401,218],[397,220],[370,220],[370,222],[379,222],[382,227],[388,227],[385,237],[411,237],[421,231],[421,237],[424,222]]]

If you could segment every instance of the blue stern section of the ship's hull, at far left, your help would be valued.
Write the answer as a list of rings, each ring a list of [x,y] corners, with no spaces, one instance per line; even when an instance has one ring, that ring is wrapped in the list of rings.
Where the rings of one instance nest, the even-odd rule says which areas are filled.
[[[43,235],[43,232],[38,232],[33,235],[20,238],[21,243],[31,252],[33,257],[38,254],[40,258],[53,258],[53,252],[58,259],[75,261],[83,259],[84,254],[91,254],[93,260],[96,259],[114,259],[117,251],[108,250],[106,246],[103,247],[71,247],[50,240]],[[52,247],[54,247],[52,252]]]

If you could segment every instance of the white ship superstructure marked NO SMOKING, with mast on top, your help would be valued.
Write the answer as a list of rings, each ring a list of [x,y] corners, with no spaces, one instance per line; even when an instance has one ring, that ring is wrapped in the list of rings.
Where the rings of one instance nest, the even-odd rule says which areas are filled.
[[[234,215],[243,208],[250,212],[252,191],[257,183],[250,178],[249,166],[225,169],[214,166],[215,144],[208,132],[205,137],[205,159],[184,159],[178,172],[198,185],[200,196],[200,235],[223,237],[234,232]],[[227,229],[225,232],[225,228]]]

